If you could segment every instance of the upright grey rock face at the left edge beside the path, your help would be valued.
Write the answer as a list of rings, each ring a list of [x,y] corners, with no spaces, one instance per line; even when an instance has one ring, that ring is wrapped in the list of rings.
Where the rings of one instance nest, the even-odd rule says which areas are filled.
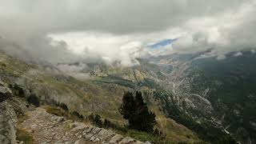
[[[0,143],[16,143],[17,117],[12,106],[6,102],[11,98],[11,90],[0,80]]]

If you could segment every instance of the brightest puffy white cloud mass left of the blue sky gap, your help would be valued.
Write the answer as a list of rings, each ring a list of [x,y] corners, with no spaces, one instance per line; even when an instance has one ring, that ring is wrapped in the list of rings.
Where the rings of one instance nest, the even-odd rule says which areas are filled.
[[[109,64],[119,61],[122,66],[130,66],[143,54],[142,42],[132,41],[130,36],[82,32],[50,34],[49,37],[56,42],[65,41],[74,54],[86,58],[97,56]]]

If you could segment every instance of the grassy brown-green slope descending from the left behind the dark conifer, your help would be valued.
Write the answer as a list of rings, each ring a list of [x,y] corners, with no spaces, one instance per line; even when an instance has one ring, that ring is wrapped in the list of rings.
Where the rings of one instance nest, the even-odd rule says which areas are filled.
[[[39,99],[38,105],[56,106],[63,103],[70,113],[82,114],[84,117],[90,113],[100,114],[102,118],[108,118],[112,122],[123,125],[126,121],[118,113],[123,91],[143,90],[148,95],[145,100],[150,110],[157,114],[158,129],[166,134],[166,142],[201,141],[185,126],[166,118],[161,102],[154,97],[155,88],[143,83],[146,78],[154,79],[152,76],[154,73],[142,67],[136,70],[107,66],[101,71],[102,66],[93,65],[94,69],[90,71],[92,78],[78,80],[58,70],[58,66],[23,62],[6,54],[0,54],[2,81],[8,83],[14,95],[18,95],[23,100],[35,96]],[[24,106],[26,107],[26,104]]]

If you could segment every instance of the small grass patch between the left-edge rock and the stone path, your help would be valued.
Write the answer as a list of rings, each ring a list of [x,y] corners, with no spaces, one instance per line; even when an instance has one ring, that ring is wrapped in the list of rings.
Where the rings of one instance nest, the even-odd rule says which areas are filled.
[[[33,137],[28,132],[26,132],[26,130],[18,129],[16,139],[26,144],[34,144]]]

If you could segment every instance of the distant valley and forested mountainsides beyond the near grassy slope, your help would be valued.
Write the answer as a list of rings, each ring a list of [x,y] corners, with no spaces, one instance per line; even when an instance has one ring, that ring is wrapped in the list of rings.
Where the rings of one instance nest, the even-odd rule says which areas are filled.
[[[150,94],[148,103],[206,141],[254,143],[255,56],[242,51],[218,58],[210,49],[138,59],[129,68],[93,65],[90,74]]]

